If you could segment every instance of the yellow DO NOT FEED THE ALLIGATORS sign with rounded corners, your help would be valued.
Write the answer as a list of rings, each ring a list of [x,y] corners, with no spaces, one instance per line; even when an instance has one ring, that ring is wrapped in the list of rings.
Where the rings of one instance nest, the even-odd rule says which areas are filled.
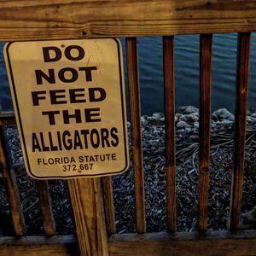
[[[26,171],[97,177],[129,166],[121,44],[116,39],[6,44]]]

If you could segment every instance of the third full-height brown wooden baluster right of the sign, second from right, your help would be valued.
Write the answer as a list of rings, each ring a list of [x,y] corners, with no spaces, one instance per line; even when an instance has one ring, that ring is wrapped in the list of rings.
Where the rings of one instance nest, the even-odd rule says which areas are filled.
[[[198,229],[204,231],[207,230],[211,143],[212,34],[201,35],[200,43]]]

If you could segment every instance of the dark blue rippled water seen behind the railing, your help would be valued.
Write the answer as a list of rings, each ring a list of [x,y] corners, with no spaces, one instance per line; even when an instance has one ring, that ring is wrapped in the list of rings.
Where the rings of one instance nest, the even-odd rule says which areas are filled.
[[[212,46],[212,110],[235,109],[236,101],[236,39],[237,35],[213,36]],[[121,40],[125,53],[125,40]],[[248,108],[256,108],[256,35],[251,46]],[[163,55],[162,38],[138,38],[140,83],[143,114],[163,112]],[[124,62],[125,62],[124,55]],[[199,36],[175,38],[176,107],[199,104]],[[126,67],[125,67],[126,77]],[[127,79],[125,79],[125,85]],[[0,44],[0,101],[4,110],[12,109],[9,85],[3,63],[3,44]],[[127,91],[127,90],[126,90]]]

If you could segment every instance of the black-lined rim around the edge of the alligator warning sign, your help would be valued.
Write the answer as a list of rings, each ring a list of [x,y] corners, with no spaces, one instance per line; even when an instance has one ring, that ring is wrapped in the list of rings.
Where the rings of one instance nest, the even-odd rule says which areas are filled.
[[[84,40],[97,40],[97,39],[113,39],[114,42],[117,44],[117,50],[118,50],[118,61],[119,61],[119,81],[120,81],[120,98],[121,98],[121,104],[122,104],[122,118],[123,118],[123,132],[124,132],[124,145],[125,145],[125,167],[119,171],[119,172],[107,172],[107,173],[101,173],[101,174],[79,174],[79,175],[70,175],[70,176],[50,176],[50,177],[39,177],[39,176],[36,176],[32,173],[31,171],[31,167],[30,167],[30,163],[29,163],[29,159],[28,159],[28,154],[27,154],[27,150],[26,150],[26,141],[25,141],[25,136],[24,136],[24,133],[23,133],[23,126],[22,126],[22,122],[21,122],[21,117],[20,117],[20,108],[19,108],[19,105],[18,105],[18,97],[17,97],[17,93],[16,93],[16,90],[15,90],[15,80],[14,80],[14,75],[13,75],[13,72],[12,72],[12,65],[11,65],[11,61],[10,61],[10,57],[9,57],[9,47],[11,44],[15,44],[15,43],[25,43],[25,42],[9,42],[9,44],[7,44],[6,48],[5,48],[5,53],[7,55],[7,58],[8,58],[8,69],[9,69],[9,74],[10,74],[10,78],[11,78],[11,86],[13,88],[13,91],[14,91],[14,95],[15,95],[15,107],[17,109],[17,113],[18,113],[18,122],[19,122],[19,125],[20,125],[20,131],[21,131],[21,136],[22,136],[22,142],[23,142],[23,146],[24,146],[24,149],[25,149],[25,154],[26,154],[26,164],[27,164],[27,168],[28,168],[28,172],[30,174],[31,177],[34,177],[36,179],[67,179],[67,178],[70,178],[70,177],[73,177],[73,178],[79,178],[79,177],[104,177],[104,176],[112,176],[112,175],[116,175],[116,174],[120,174],[120,173],[123,173],[125,172],[128,167],[129,167],[129,154],[127,152],[127,143],[128,143],[128,137],[127,137],[127,129],[125,127],[126,124],[125,124],[125,102],[124,102],[124,86],[123,86],[123,77],[122,77],[122,63],[121,63],[121,52],[120,52],[120,43],[119,41],[116,39],[116,38],[88,38],[88,39],[84,39]],[[83,39],[67,39],[68,41],[69,40],[74,40],[74,41],[80,41],[80,40],[83,40]],[[43,40],[43,41],[40,41],[40,42],[45,42],[45,41],[51,41],[51,40]],[[58,41],[58,40],[53,40],[53,41]],[[62,41],[62,40],[59,40],[59,41]],[[29,41],[29,42],[38,42],[38,41]],[[126,140],[127,138],[127,140]]]

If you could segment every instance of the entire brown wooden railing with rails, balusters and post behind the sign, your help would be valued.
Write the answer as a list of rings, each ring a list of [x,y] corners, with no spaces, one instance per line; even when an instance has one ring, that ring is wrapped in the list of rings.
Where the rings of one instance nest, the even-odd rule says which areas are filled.
[[[246,136],[250,32],[256,31],[255,1],[3,1],[0,2],[0,40],[125,37],[131,108],[131,143],[137,207],[137,233],[115,233],[111,177],[68,181],[82,255],[255,255],[256,231],[237,231]],[[209,187],[212,33],[239,32],[236,72],[236,137],[230,206],[230,230],[207,231]],[[201,34],[200,47],[200,155],[199,232],[177,233],[175,188],[175,84],[173,36]],[[145,196],[137,36],[164,36],[166,116],[166,233],[145,233]],[[15,124],[13,114],[1,115],[1,125]],[[26,236],[13,166],[1,130],[0,159],[11,207],[15,236],[0,238],[1,252],[76,255],[74,236],[54,236],[49,189],[38,182],[46,236]],[[236,231],[236,233],[232,231]],[[108,236],[107,236],[108,233]],[[145,234],[143,234],[145,233]]]

